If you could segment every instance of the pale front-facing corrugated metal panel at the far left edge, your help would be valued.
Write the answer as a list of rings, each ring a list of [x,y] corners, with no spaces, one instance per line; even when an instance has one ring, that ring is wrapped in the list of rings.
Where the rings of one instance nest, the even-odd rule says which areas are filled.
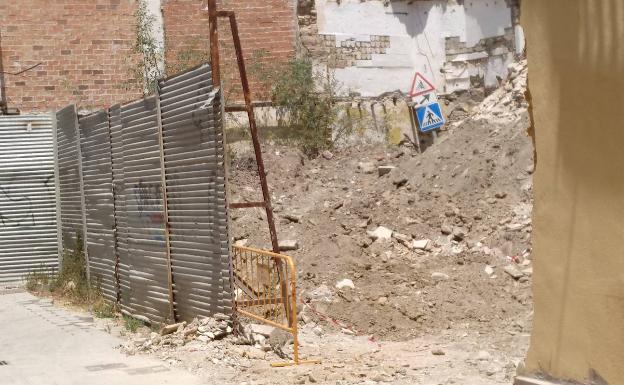
[[[0,284],[58,267],[50,115],[0,117]]]

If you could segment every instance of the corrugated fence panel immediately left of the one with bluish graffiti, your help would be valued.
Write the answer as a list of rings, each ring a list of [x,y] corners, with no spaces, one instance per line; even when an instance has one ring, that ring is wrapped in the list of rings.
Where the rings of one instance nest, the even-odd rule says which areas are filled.
[[[79,120],[84,185],[86,243],[91,284],[117,299],[111,143],[108,112]]]

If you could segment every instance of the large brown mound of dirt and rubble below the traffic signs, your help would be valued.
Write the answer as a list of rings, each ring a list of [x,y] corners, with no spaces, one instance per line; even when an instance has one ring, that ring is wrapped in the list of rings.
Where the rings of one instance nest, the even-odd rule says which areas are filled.
[[[518,65],[511,91],[490,95],[422,154],[355,147],[307,160],[264,147],[279,237],[301,245],[289,253],[309,302],[304,320],[405,339],[525,318],[533,172],[526,102],[518,98],[525,73]],[[233,163],[236,201],[259,198],[252,156]],[[387,234],[377,237],[380,226]],[[237,211],[232,228],[235,239],[269,248],[261,210]],[[342,279],[355,288],[336,288]]]

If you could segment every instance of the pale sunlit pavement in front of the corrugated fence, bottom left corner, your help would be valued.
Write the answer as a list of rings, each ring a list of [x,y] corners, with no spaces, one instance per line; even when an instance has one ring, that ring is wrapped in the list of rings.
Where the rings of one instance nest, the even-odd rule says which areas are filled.
[[[28,293],[0,291],[2,385],[197,385],[188,372],[126,356],[122,341],[96,330],[92,318]]]

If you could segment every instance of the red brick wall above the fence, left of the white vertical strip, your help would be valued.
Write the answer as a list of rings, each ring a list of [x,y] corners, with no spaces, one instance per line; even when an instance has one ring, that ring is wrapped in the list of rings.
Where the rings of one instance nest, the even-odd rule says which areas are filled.
[[[0,0],[9,107],[96,109],[140,96],[131,76],[136,0]],[[128,90],[127,88],[130,87]]]

